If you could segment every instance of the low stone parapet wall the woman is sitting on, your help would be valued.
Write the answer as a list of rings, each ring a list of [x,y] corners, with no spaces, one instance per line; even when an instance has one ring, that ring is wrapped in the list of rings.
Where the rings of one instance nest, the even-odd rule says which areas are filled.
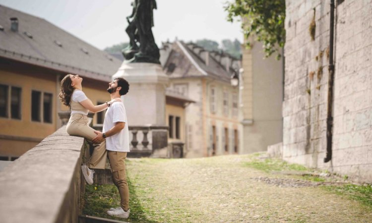
[[[65,125],[0,171],[2,223],[77,223],[85,180],[84,138]]]

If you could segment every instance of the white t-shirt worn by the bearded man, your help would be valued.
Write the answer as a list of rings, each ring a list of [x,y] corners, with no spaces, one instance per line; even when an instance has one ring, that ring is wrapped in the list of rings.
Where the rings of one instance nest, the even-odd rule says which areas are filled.
[[[125,122],[125,126],[117,134],[106,138],[106,149],[129,152],[129,129],[123,102],[115,102],[107,109],[103,122],[103,132],[109,131],[118,121]]]

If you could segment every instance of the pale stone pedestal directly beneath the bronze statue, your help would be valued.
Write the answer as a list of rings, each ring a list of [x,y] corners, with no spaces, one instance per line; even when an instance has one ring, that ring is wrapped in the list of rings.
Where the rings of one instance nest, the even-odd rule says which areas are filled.
[[[129,125],[165,126],[168,76],[161,65],[124,61],[112,78],[117,77],[123,77],[129,82],[129,92],[122,96]]]

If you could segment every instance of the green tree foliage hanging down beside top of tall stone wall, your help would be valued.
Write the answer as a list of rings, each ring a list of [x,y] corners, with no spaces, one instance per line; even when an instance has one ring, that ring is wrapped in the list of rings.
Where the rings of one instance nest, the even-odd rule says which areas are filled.
[[[234,0],[227,2],[225,10],[227,20],[233,22],[236,17],[243,19],[242,29],[251,46],[249,37],[262,42],[265,56],[277,53],[285,44],[285,0]]]

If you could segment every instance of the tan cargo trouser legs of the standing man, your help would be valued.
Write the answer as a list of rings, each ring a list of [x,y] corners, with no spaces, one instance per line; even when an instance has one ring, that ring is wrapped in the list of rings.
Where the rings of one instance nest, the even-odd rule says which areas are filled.
[[[120,206],[126,212],[129,209],[129,188],[125,173],[126,152],[108,151],[108,157],[113,174],[113,181],[118,187],[120,194]]]

